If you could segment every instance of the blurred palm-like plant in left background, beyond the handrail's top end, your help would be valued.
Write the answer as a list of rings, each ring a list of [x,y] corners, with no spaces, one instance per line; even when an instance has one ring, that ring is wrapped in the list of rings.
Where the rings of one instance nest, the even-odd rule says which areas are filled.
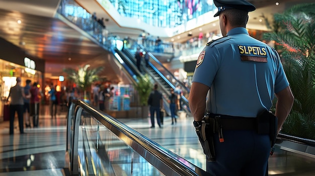
[[[89,102],[89,96],[87,90],[91,88],[91,85],[99,80],[98,73],[103,70],[103,67],[90,68],[89,64],[79,67],[77,70],[72,68],[63,69],[63,72],[67,74],[67,79],[76,84],[77,88],[84,92],[83,99]]]

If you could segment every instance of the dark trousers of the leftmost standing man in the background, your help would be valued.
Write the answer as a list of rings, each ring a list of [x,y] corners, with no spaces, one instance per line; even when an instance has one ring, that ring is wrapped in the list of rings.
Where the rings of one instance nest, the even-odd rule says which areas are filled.
[[[24,105],[10,105],[10,134],[14,131],[15,112],[18,113],[20,133],[24,133],[23,107]]]

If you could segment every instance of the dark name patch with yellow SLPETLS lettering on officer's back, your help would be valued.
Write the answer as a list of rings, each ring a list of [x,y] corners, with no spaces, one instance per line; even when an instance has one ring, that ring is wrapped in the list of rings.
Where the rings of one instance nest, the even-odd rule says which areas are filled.
[[[242,61],[267,62],[267,48],[238,45]]]

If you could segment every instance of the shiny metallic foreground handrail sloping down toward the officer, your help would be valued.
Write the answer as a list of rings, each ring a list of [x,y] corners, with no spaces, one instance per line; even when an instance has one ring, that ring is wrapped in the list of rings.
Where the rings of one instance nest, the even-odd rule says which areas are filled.
[[[86,102],[81,100],[72,102],[90,113],[162,173],[166,175],[211,175],[117,119],[89,106]],[[180,160],[184,162],[180,162]]]

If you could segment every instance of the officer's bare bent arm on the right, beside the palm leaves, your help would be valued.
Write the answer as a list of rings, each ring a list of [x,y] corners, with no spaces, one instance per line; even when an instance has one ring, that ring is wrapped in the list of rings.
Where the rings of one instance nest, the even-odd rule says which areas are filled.
[[[276,104],[276,112],[275,116],[278,118],[278,133],[282,128],[282,125],[289,115],[294,97],[292,95],[290,86],[286,87],[285,89],[281,90],[280,92],[276,93],[276,97],[278,98]]]

